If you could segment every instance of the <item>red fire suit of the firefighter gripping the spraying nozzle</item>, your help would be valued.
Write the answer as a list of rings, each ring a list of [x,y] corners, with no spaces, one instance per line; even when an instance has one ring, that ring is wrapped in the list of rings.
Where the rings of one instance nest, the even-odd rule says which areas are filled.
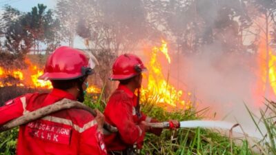
[[[118,128],[119,133],[104,135],[104,142],[108,151],[124,151],[128,147],[137,145],[141,149],[145,131],[139,123],[141,121],[157,122],[145,114],[137,116],[135,106],[137,96],[125,85],[119,85],[110,96],[106,110],[103,112],[106,121]],[[162,129],[150,129],[153,134],[160,135]]]

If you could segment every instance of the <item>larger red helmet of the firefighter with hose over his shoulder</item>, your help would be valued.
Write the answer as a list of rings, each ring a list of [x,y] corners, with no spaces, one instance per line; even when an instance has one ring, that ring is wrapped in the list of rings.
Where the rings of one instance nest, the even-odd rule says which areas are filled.
[[[39,76],[43,80],[70,80],[93,73],[90,68],[92,60],[74,48],[61,46],[48,57],[44,74]]]

